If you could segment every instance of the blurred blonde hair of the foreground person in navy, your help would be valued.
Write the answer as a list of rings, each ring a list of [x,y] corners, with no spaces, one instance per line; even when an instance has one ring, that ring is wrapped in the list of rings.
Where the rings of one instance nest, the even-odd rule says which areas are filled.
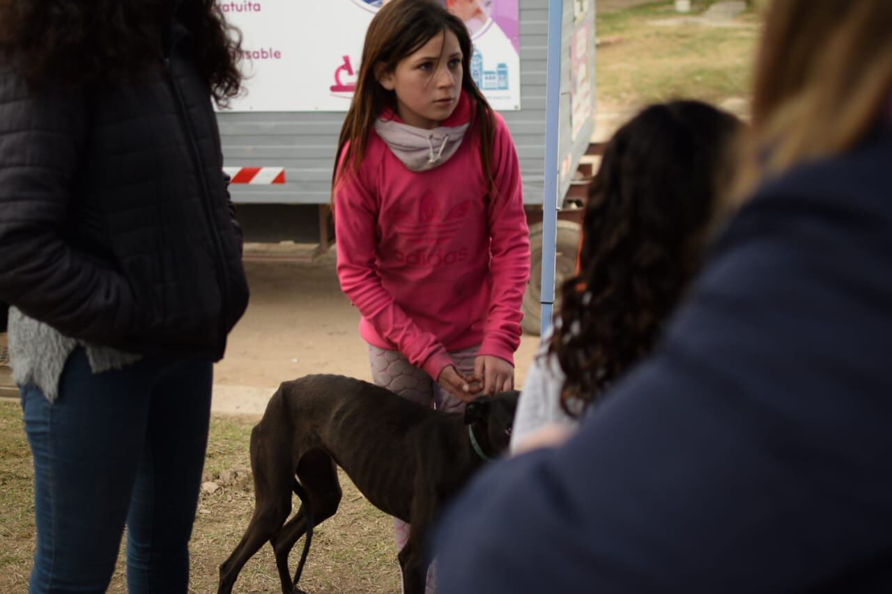
[[[772,0],[734,195],[799,162],[851,149],[890,97],[892,1]]]

